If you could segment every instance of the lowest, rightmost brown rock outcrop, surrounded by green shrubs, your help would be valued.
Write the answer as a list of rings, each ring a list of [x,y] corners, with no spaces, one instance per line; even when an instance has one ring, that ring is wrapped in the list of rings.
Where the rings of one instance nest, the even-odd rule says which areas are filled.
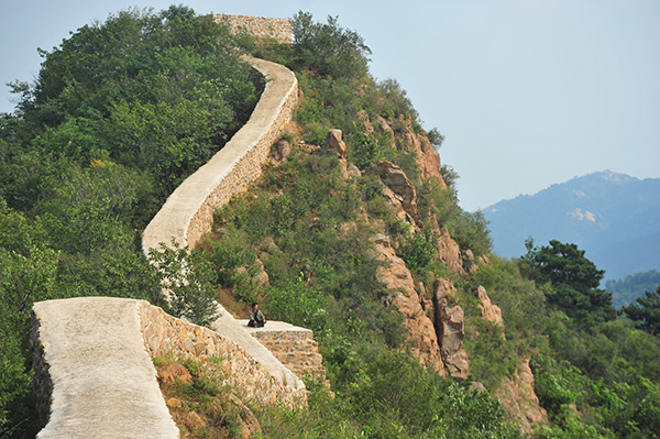
[[[528,358],[522,359],[513,376],[504,378],[495,396],[502,402],[507,417],[516,420],[524,433],[532,433],[535,425],[548,424],[548,413],[534,392],[534,374]]]

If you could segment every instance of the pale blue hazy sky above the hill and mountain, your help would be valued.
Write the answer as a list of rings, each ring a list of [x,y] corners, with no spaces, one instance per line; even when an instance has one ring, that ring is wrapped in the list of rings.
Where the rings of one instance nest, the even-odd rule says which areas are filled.
[[[69,32],[131,6],[0,0],[0,85],[32,80]],[[660,1],[185,1],[199,14],[339,15],[447,141],[466,210],[612,169],[660,177]],[[9,88],[0,111],[12,111]]]

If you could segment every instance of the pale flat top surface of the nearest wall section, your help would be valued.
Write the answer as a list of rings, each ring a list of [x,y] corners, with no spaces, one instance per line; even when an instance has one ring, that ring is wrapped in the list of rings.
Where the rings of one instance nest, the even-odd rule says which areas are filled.
[[[77,297],[34,304],[52,383],[50,419],[37,438],[179,437],[144,348],[140,303]]]

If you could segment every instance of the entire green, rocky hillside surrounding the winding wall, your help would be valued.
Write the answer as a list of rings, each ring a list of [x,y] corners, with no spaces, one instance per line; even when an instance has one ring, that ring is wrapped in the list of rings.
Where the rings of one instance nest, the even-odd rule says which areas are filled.
[[[182,263],[193,282],[169,311],[202,321],[209,297],[243,316],[258,300],[270,319],[314,329],[331,383],[308,378],[306,408],[248,409],[190,362],[191,384],[170,392],[221,426],[198,437],[240,437],[243,415],[222,415],[235,407],[264,438],[658,437],[660,341],[617,318],[584,252],[493,256],[486,221],[458,207],[457,176],[440,167],[443,138],[395,80],[370,76],[363,39],[306,13],[293,29],[294,45],[264,44],[183,7],[120,12],[14,85],[16,113],[0,124],[0,437],[37,428],[33,301],[165,305],[160,283]],[[162,253],[158,272],[140,230],[262,87],[235,47],[296,73],[296,121],[205,243]],[[322,146],[331,129],[345,153]],[[588,270],[565,275],[573,266]],[[503,321],[484,317],[491,300]]]

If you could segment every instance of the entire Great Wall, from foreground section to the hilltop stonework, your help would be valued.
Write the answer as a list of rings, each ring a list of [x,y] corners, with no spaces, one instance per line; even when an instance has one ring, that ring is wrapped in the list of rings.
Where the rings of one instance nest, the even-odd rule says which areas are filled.
[[[234,33],[292,42],[288,20],[213,18]],[[172,239],[195,248],[210,231],[213,210],[258,178],[271,145],[292,120],[295,75],[274,63],[245,59],[266,78],[260,101],[245,125],[153,218],[143,233],[145,255]],[[162,355],[218,356],[227,383],[245,398],[305,404],[298,375],[324,377],[311,331],[274,321],[248,330],[217,306],[220,317],[210,330],[143,300],[82,297],[35,304],[31,342],[44,425],[37,438],[178,438],[152,362]]]

